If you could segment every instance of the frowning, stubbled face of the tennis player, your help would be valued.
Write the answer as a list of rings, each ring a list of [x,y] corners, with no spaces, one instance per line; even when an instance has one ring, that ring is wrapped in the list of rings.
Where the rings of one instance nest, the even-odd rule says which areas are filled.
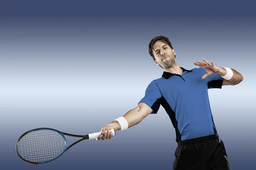
[[[157,65],[171,68],[175,64],[175,51],[166,43],[157,41],[153,45],[154,57]]]

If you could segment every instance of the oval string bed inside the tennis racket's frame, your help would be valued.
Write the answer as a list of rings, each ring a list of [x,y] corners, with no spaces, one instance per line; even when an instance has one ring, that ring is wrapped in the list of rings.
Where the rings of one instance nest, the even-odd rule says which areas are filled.
[[[53,130],[37,130],[27,133],[18,142],[19,155],[31,162],[42,163],[55,159],[64,151],[66,140]]]

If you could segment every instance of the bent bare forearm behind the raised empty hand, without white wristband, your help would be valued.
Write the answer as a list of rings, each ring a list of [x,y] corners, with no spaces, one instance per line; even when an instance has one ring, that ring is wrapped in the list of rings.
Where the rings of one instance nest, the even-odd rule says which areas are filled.
[[[226,68],[223,68],[223,67],[219,67],[219,68],[220,69],[217,72],[217,74],[219,74],[221,77],[226,76],[227,75]],[[233,76],[230,80],[223,79],[222,85],[238,85],[241,81],[243,81],[244,78],[239,72],[237,72],[233,68],[230,68],[230,69],[233,72]]]

